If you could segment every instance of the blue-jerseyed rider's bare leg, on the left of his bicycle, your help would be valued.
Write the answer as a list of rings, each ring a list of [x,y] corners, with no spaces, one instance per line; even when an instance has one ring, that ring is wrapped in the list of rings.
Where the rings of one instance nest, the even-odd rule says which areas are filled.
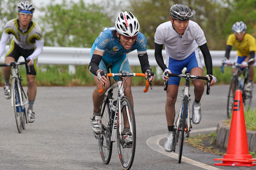
[[[106,93],[107,89],[110,87],[110,81],[107,80],[107,82],[105,83],[104,91],[102,93],[98,92],[101,89],[102,84],[100,81],[98,81],[96,75],[94,76],[94,81],[96,83],[96,88],[95,88],[94,92],[92,93],[92,101],[94,104],[94,111],[100,112],[100,105],[101,105],[102,101],[104,100],[105,93]]]

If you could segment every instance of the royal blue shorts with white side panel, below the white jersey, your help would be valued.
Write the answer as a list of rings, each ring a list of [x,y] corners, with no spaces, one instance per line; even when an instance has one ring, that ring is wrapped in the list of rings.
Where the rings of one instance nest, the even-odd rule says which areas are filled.
[[[173,74],[181,74],[181,71],[184,67],[187,67],[188,73],[192,70],[192,68],[200,67],[203,69],[201,56],[199,49],[196,49],[190,56],[185,58],[184,60],[174,60],[169,58],[168,69],[171,70]],[[170,77],[168,84],[180,85],[180,77]]]

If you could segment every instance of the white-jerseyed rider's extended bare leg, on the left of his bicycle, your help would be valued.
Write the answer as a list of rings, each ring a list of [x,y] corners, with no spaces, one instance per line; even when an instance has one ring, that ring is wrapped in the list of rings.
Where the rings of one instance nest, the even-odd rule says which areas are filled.
[[[174,84],[169,84],[166,90],[166,104],[165,104],[167,126],[174,125],[175,102],[177,100],[177,95],[178,95],[178,86]]]

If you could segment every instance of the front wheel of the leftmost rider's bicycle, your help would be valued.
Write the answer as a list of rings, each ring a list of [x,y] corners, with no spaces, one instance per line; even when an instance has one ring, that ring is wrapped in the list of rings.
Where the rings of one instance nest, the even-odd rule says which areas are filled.
[[[14,102],[14,113],[15,113],[15,120],[18,132],[22,132],[22,112],[21,112],[21,102],[20,102],[20,93],[18,91],[18,83],[17,79],[12,79],[12,95],[13,95],[13,102]],[[19,105],[19,106],[17,106]]]

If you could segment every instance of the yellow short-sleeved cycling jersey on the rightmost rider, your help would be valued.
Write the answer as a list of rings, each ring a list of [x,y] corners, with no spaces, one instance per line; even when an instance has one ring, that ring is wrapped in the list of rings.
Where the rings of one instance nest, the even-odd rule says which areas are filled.
[[[235,34],[230,34],[226,45],[234,45],[238,51],[237,54],[240,57],[249,56],[250,51],[256,51],[256,40],[250,34],[245,34],[244,39],[241,42],[236,39]]]

